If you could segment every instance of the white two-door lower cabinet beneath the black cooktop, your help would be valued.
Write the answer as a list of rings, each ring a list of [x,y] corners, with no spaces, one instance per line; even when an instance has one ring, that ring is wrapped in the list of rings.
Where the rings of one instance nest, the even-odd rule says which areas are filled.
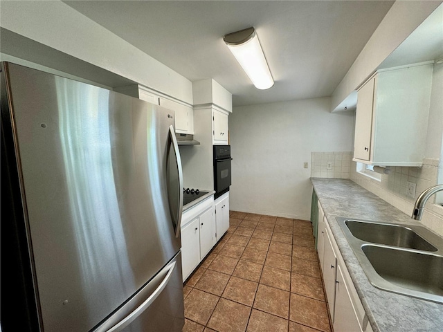
[[[215,241],[214,197],[183,212],[181,217],[181,266],[183,282],[213,248]]]

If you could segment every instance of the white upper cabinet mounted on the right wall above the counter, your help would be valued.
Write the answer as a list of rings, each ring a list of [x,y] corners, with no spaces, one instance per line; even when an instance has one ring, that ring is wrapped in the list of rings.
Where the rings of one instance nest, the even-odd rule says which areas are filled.
[[[433,65],[377,71],[358,90],[354,161],[421,166],[426,147]]]

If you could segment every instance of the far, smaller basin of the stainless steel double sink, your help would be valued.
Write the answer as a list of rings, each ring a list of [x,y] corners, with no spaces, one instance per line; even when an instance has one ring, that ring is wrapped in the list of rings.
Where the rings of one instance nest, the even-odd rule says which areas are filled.
[[[345,224],[352,235],[362,241],[401,248],[437,251],[437,248],[431,243],[408,227],[356,220],[346,220]]]

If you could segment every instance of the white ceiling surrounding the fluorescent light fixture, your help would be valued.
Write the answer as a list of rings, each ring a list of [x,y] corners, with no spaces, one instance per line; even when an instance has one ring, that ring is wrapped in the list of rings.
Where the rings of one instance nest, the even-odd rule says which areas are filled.
[[[332,95],[394,1],[64,1],[234,106]],[[275,84],[255,89],[223,37],[255,27]]]

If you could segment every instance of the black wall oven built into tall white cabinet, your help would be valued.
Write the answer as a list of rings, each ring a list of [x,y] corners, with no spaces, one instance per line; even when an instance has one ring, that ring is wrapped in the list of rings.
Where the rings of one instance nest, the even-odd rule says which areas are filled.
[[[230,145],[214,145],[214,198],[229,191]]]

